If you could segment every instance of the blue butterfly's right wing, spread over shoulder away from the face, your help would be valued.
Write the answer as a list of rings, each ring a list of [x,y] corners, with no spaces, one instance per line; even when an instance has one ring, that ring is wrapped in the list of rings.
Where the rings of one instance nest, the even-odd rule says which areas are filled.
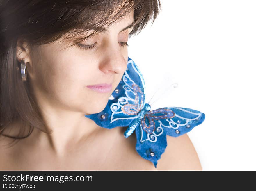
[[[204,119],[204,113],[189,108],[166,107],[149,111],[135,130],[136,151],[157,167],[157,161],[167,147],[166,135],[183,135],[201,124]]]

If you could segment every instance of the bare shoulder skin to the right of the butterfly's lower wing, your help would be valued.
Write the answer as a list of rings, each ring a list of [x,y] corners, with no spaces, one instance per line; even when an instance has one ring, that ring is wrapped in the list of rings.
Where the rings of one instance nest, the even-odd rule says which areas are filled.
[[[187,134],[166,136],[167,147],[157,163],[157,170],[202,170],[198,154]]]

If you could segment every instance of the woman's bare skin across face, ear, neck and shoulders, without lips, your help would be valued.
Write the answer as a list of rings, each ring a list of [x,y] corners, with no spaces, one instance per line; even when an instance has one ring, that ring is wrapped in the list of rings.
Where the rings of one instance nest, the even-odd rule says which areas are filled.
[[[201,170],[200,161],[189,137],[167,136],[168,146],[157,169],[135,150],[136,135],[124,138],[125,128],[105,129],[84,114],[102,111],[127,67],[127,42],[132,28],[133,11],[108,28],[108,32],[90,38],[83,44],[94,44],[93,50],[71,47],[62,50],[65,39],[42,45],[33,55],[22,51],[17,43],[17,59],[25,59],[33,93],[47,127],[53,133],[38,129],[12,147],[11,139],[0,137],[1,170]],[[33,50],[36,51],[36,50]],[[112,83],[109,93],[94,92],[87,85]],[[14,131],[19,123],[10,124]],[[14,132],[10,132],[12,134]],[[188,160],[189,159],[189,160]]]

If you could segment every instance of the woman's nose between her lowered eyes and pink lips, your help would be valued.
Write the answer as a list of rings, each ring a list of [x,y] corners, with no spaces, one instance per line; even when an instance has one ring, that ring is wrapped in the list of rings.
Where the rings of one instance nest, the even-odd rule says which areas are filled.
[[[118,44],[118,46],[120,46]],[[112,45],[107,47],[104,51],[104,56],[99,64],[99,69],[103,72],[113,72],[117,74],[123,74],[127,68],[127,53],[120,50],[120,47]],[[125,55],[124,55],[125,54]],[[126,58],[127,57],[127,58]]]

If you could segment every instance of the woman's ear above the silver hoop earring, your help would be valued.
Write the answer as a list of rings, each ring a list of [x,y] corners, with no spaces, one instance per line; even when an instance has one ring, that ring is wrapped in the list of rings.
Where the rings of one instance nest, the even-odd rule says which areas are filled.
[[[24,41],[24,39],[17,40],[16,58],[19,62],[21,60],[24,60],[25,63],[26,62],[30,63],[29,48],[28,48],[28,44]]]

